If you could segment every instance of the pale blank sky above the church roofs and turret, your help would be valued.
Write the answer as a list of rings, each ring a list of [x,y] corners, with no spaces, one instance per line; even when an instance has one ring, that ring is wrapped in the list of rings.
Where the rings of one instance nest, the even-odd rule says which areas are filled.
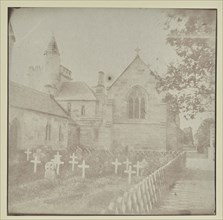
[[[113,79],[134,59],[135,49],[152,70],[165,73],[176,60],[166,45],[165,10],[161,9],[71,9],[21,8],[11,18],[16,37],[10,79],[26,84],[30,65],[43,65],[43,53],[54,34],[62,64],[77,81],[89,86],[104,71]],[[185,121],[181,127],[197,129],[201,119]],[[194,125],[193,125],[194,124]]]

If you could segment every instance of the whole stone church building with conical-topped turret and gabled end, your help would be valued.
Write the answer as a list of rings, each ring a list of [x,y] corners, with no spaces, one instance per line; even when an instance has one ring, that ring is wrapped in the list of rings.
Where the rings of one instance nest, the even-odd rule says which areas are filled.
[[[29,112],[27,118],[16,120],[32,125],[28,130],[37,137],[23,138],[21,148],[37,143],[53,149],[88,146],[165,151],[179,147],[179,117],[171,114],[156,92],[156,79],[139,54],[111,85],[106,85],[107,76],[100,71],[94,88],[72,79],[72,72],[61,64],[54,36],[43,56],[44,65],[29,68],[30,88],[10,84],[10,109],[22,115]],[[12,114],[10,111],[10,121],[15,120]],[[49,127],[57,131],[51,142],[46,140]]]

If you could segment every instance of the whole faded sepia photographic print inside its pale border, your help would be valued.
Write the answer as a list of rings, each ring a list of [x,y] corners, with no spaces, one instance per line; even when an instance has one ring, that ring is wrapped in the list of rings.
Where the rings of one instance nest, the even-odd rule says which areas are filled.
[[[211,8],[8,8],[8,215],[215,215],[216,36]]]

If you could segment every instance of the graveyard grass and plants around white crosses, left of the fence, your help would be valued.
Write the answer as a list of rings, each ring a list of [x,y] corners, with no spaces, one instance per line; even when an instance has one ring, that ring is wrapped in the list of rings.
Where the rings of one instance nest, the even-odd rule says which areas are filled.
[[[131,186],[148,176],[150,173],[165,165],[175,156],[173,153],[144,152],[136,154],[126,152],[93,151],[78,156],[78,165],[83,159],[89,168],[85,178],[82,178],[82,169],[77,164],[72,171],[74,152],[63,151],[60,173],[54,181],[44,178],[45,164],[57,152],[44,152],[41,163],[34,173],[34,164],[26,160],[26,154],[16,152],[19,166],[9,167],[9,213],[13,214],[101,214],[111,201],[123,195]],[[82,153],[83,155],[83,153]],[[128,174],[124,172],[126,159],[136,165],[137,161],[146,160],[147,165],[141,170],[141,175],[132,175],[131,184],[128,183]],[[30,156],[33,159],[33,156]],[[122,165],[118,166],[115,174],[116,159]],[[136,168],[132,167],[134,171]]]

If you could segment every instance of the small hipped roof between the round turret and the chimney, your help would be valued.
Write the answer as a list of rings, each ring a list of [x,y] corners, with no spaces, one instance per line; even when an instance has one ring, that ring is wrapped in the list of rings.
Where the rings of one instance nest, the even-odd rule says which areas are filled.
[[[94,92],[84,82],[64,82],[57,100],[96,100]]]

